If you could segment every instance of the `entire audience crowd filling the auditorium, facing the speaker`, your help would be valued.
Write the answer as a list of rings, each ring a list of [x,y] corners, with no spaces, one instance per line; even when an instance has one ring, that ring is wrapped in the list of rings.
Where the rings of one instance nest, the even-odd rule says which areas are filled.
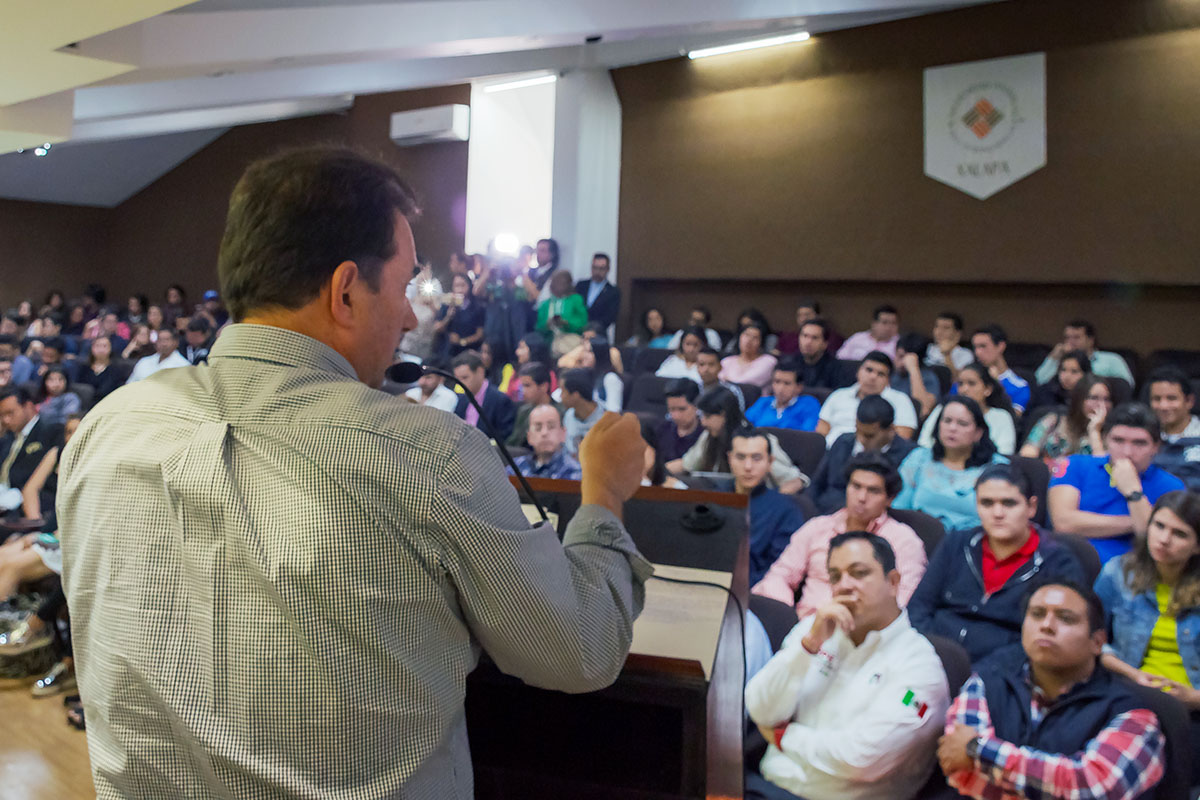
[[[794,330],[746,308],[728,335],[703,306],[682,329],[648,308],[616,347],[608,258],[575,283],[552,241],[529,257],[456,254],[448,294],[431,270],[414,275],[424,327],[397,356],[457,385],[430,372],[397,393],[506,443],[523,474],[566,480],[587,431],[632,410],[644,485],[748,497],[752,591],[792,622],[748,679],[766,751],[746,763],[746,796],[916,796],[932,775],[979,798],[1058,796],[1070,781],[1134,798],[1162,780],[1158,711],[1114,675],[1200,718],[1200,495],[1186,488],[1200,481],[1196,375],[1168,365],[1139,385],[1084,320],[1028,372],[1009,363],[1003,327],[967,337],[955,312],[930,338],[881,306],[841,339],[815,300],[797,303]],[[7,313],[8,521],[42,518],[36,533],[52,535],[64,426],[128,381],[203,363],[227,321],[215,293],[188,306],[179,287],[157,305],[113,307],[91,287]],[[644,380],[658,381],[649,401],[634,391]],[[50,537],[0,548],[0,662],[52,646],[41,693],[72,681],[53,584]],[[22,601],[30,587],[35,603]],[[947,642],[971,664],[962,685],[935,650]],[[1034,735],[1021,708],[1070,723],[1048,714],[1056,723]],[[1105,771],[1122,759],[1138,768]]]

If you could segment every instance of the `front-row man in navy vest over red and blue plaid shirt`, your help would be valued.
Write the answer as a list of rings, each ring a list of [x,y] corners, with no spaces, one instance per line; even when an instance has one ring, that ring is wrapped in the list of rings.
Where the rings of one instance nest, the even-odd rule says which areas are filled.
[[[949,784],[980,800],[1147,795],[1163,777],[1163,733],[1099,666],[1104,638],[1091,589],[1034,591],[1021,648],[985,660],[950,705],[937,748]]]

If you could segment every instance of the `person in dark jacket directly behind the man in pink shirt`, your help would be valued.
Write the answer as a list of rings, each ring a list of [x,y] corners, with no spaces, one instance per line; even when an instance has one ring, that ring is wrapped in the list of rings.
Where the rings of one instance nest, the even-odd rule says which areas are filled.
[[[878,395],[868,395],[854,413],[854,432],[844,433],[826,452],[808,489],[821,513],[833,513],[846,505],[846,468],[860,453],[878,453],[895,468],[917,445],[898,437],[895,410]],[[899,488],[896,489],[899,493]],[[890,500],[890,498],[889,498]]]

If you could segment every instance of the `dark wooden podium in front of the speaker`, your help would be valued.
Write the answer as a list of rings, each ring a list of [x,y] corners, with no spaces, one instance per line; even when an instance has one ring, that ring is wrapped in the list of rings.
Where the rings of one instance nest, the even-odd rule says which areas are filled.
[[[562,535],[580,506],[578,483],[529,482],[546,510],[558,515]],[[684,516],[697,506],[706,506],[720,527],[689,530]],[[745,507],[738,494],[642,488],[625,505],[625,527],[654,564],[731,572],[730,590],[745,608]],[[631,652],[608,688],[565,694],[526,686],[485,658],[467,684],[475,796],[742,798],[744,620],[722,589],[695,590],[725,601],[707,675],[708,664],[697,660]]]

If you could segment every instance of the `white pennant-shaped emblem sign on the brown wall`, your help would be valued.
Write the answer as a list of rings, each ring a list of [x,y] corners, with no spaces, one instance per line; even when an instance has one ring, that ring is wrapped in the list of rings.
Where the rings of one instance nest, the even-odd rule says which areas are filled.
[[[1046,163],[1046,54],[925,70],[925,174],[986,199]]]

